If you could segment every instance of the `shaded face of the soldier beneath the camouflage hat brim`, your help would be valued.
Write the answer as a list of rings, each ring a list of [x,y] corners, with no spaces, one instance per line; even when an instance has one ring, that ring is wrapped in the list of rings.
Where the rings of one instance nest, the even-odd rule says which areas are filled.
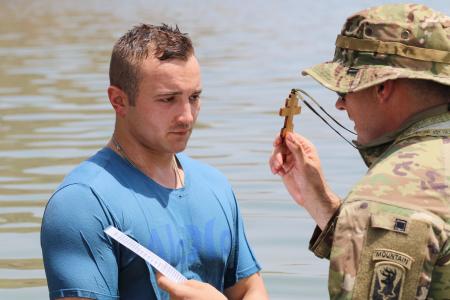
[[[347,111],[348,117],[355,123],[358,143],[364,145],[383,135],[384,115],[376,98],[376,87],[370,87],[358,92],[348,93],[339,97],[336,108]]]

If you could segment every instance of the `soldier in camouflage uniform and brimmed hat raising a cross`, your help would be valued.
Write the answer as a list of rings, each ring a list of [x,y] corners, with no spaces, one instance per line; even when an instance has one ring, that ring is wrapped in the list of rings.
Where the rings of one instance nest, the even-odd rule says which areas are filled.
[[[308,140],[274,144],[272,172],[318,224],[310,249],[330,260],[330,298],[450,299],[450,18],[412,4],[361,11],[333,61],[303,74],[338,92],[369,166],[341,202]]]

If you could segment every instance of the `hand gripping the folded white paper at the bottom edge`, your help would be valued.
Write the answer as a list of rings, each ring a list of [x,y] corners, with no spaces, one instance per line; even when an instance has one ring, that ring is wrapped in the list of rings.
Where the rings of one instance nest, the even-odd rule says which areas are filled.
[[[158,285],[169,293],[171,300],[226,300],[227,298],[212,285],[188,280],[183,283],[175,283],[167,277],[156,274]]]

